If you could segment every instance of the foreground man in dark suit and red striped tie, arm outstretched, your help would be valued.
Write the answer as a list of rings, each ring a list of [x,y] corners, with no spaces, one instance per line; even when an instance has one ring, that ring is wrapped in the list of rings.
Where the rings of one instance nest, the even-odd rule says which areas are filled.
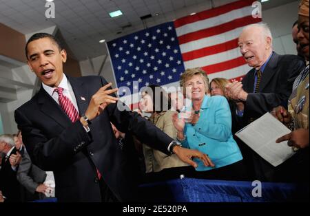
[[[23,143],[34,164],[54,171],[60,202],[130,201],[136,194],[110,122],[124,133],[196,166],[207,155],[184,149],[161,130],[126,111],[100,76],[63,74],[66,52],[50,34],[34,34],[25,47],[30,69],[42,81],[39,92],[15,111]],[[123,110],[123,111],[121,111]],[[77,117],[76,117],[77,116]]]

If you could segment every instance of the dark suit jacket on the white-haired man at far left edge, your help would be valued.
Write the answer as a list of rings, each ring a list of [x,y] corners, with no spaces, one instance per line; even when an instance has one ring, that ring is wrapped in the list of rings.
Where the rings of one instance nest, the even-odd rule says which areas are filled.
[[[16,154],[17,149],[14,148],[10,155]],[[0,191],[6,197],[6,202],[21,202],[21,188],[17,181],[16,171],[12,170],[9,160],[5,155],[2,158],[0,170]]]

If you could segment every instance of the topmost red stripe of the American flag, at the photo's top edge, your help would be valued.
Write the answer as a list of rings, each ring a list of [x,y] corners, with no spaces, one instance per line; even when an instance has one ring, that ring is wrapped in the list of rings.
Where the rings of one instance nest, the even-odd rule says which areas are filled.
[[[193,16],[190,16],[190,17],[182,17],[180,19],[177,19],[176,21],[174,21],[174,26],[175,26],[175,28],[178,28],[182,25],[187,25],[189,23],[194,23],[196,21],[209,19],[211,17],[217,17],[220,14],[225,14],[231,10],[237,10],[240,8],[244,8],[246,6],[251,6],[253,2],[254,2],[253,0],[247,0],[247,1],[241,0],[241,1],[236,1],[233,3],[228,3],[225,6],[220,6],[218,8],[205,10],[203,12],[199,12]]]

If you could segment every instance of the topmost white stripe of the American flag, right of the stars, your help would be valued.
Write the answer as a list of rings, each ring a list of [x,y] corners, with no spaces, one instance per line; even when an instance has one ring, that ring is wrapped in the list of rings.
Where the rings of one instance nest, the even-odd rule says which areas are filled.
[[[228,23],[233,21],[234,19],[239,19],[242,17],[247,17],[252,14],[253,8],[251,6],[247,6],[245,8],[240,8],[237,10],[232,10],[225,14],[221,14],[216,17],[211,17],[209,19],[204,19],[201,21],[196,21],[194,23],[188,23],[186,25],[182,25],[176,28],[176,35],[182,36],[183,34],[188,34],[191,32],[197,32],[199,30],[204,30],[206,28],[215,27],[217,25],[221,25],[224,23]]]

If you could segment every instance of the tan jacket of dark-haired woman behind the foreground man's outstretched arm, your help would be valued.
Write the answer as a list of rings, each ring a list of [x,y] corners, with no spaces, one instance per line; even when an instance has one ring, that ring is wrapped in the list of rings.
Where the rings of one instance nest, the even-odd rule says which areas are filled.
[[[162,111],[160,114],[152,115],[149,120],[171,138],[176,138],[176,128],[172,123],[174,111]],[[161,151],[152,149],[143,144],[143,155],[145,158],[145,172],[159,172],[165,168],[189,166],[178,159],[176,155],[166,155]]]

